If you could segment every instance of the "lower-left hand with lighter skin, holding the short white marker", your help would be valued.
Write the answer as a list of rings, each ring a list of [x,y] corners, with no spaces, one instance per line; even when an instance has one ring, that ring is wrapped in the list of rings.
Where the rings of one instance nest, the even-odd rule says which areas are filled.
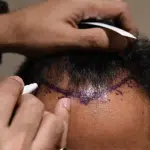
[[[19,77],[0,83],[0,150],[54,150],[57,144],[65,147],[69,100],[60,100],[55,114],[45,112],[36,97],[21,96],[23,85]],[[13,113],[18,100],[18,109]]]

